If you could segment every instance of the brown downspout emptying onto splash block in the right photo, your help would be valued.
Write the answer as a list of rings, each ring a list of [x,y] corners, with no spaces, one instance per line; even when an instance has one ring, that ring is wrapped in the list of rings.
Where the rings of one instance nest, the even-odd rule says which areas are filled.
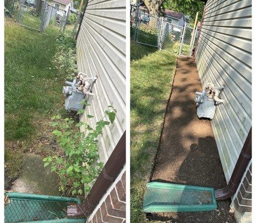
[[[215,191],[215,197],[217,200],[225,200],[234,195],[250,159],[252,159],[252,127],[250,128],[247,139],[245,140],[238,161],[235,164],[228,186]]]

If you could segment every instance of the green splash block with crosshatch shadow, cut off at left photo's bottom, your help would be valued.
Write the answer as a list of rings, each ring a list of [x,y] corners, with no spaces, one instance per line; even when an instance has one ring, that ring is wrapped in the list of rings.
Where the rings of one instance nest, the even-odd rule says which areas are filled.
[[[86,222],[86,219],[67,219],[67,205],[81,203],[78,198],[36,195],[32,193],[6,193],[4,222]]]

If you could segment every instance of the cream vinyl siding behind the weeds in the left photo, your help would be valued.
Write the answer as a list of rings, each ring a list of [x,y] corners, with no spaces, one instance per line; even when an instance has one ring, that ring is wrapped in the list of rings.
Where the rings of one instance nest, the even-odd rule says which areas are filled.
[[[100,160],[105,163],[125,130],[125,0],[89,0],[77,50],[79,72],[98,76],[81,121],[94,127],[109,105],[117,109],[114,124],[99,137]],[[94,118],[86,120],[86,114]]]

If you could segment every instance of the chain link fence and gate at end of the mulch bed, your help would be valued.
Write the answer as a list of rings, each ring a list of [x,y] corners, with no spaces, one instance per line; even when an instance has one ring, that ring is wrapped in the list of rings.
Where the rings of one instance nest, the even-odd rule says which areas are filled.
[[[131,4],[131,37],[137,43],[158,47],[175,55],[191,56],[196,42],[197,28],[178,26],[163,17],[151,16]]]

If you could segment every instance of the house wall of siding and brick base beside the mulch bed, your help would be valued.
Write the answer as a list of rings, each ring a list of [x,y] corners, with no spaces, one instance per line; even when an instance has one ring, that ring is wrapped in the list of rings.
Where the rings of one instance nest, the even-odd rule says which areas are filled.
[[[252,127],[252,1],[207,1],[200,26],[195,58],[202,85],[225,85],[224,103],[216,106],[212,128],[229,182]],[[238,221],[250,219],[251,163],[231,207]]]

